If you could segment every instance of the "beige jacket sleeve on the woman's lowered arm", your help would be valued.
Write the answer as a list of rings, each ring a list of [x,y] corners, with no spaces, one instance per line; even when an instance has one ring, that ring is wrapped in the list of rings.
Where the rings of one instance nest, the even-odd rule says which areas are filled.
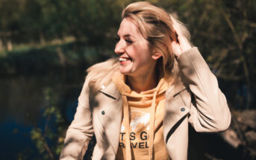
[[[66,131],[66,138],[60,159],[83,159],[90,139],[93,137],[92,114],[89,106],[89,85],[85,80],[78,97],[78,107],[74,120]]]

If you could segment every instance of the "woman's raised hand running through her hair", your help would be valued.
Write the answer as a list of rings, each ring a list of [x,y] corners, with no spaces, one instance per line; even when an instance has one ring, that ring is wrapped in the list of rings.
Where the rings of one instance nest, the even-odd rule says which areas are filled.
[[[190,42],[187,38],[181,33],[181,29],[178,26],[178,22],[173,23],[173,28],[177,34],[177,41],[172,41],[172,52],[176,57],[179,57],[184,51],[187,51],[191,48]]]

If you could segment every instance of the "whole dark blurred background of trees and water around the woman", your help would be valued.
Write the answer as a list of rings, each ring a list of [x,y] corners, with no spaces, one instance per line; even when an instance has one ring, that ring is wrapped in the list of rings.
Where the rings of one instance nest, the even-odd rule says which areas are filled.
[[[115,56],[131,2],[0,0],[1,159],[58,159],[85,70]],[[190,128],[190,159],[256,159],[256,1],[151,2],[187,25],[232,112],[225,132]]]

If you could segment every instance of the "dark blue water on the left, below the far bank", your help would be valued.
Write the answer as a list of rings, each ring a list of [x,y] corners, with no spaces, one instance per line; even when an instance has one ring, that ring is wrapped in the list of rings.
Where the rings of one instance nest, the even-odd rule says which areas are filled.
[[[63,111],[66,124],[72,121],[77,98],[84,82],[84,71],[69,68],[47,74],[20,74],[0,77],[0,157],[1,159],[39,159],[31,141],[30,131],[46,125],[44,110],[49,107],[46,90],[51,89],[51,100]]]

